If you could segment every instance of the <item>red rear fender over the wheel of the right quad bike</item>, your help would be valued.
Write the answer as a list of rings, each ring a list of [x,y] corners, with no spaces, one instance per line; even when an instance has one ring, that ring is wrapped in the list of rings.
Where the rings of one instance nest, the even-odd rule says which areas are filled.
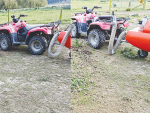
[[[103,30],[110,30],[111,25],[107,25],[104,22],[93,22],[89,25],[89,29],[93,29],[93,28],[101,28]]]

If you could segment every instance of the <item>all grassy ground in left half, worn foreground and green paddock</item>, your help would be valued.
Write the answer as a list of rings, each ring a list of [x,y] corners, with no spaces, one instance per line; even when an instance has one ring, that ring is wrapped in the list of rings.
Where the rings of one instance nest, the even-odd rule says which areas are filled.
[[[10,15],[28,24],[57,21],[60,10],[28,10]],[[61,29],[70,24],[69,10],[63,10]],[[0,23],[7,22],[7,13],[0,13]],[[70,112],[70,57],[64,48],[58,58],[31,55],[25,45],[10,51],[0,50],[0,113],[69,113]]]

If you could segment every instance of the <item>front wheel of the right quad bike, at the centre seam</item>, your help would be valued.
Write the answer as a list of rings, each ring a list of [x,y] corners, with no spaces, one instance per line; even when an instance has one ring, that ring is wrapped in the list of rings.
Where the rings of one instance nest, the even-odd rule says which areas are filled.
[[[71,37],[72,38],[79,38],[78,26],[77,26],[76,22],[72,23]]]

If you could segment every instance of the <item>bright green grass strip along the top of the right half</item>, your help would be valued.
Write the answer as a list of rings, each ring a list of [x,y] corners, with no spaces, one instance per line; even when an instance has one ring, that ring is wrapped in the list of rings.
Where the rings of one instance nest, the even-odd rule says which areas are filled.
[[[88,0],[88,1],[79,1],[79,0],[72,0],[71,1],[71,8],[73,10],[73,12],[81,12],[81,11],[85,11],[85,9],[82,9],[82,7],[86,6],[90,9],[93,8],[93,6],[99,6],[99,7],[102,7],[102,9],[95,9],[96,12],[104,12],[104,11],[108,11],[109,10],[109,1],[106,1],[106,2],[100,2],[100,0]],[[116,7],[111,7],[111,11],[125,11],[128,7],[129,7],[129,2],[128,1],[123,1],[122,2],[122,6],[121,6],[121,1],[118,2],[118,1],[113,1],[112,4],[116,4]],[[131,9],[140,5],[139,2],[135,1],[135,2],[132,2],[132,5],[131,5]],[[143,6],[140,6],[139,8],[137,9],[134,9],[133,11],[136,11],[136,10],[140,10],[142,11],[143,9]],[[145,7],[146,10],[149,10],[150,9],[150,2],[147,2],[146,3],[146,7]]]

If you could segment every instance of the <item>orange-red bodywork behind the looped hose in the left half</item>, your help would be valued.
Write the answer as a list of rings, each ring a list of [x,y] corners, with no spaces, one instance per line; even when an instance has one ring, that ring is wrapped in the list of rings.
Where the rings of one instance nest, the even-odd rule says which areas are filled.
[[[63,40],[65,34],[66,34],[66,31],[61,31],[60,32],[60,34],[58,36],[59,43],[61,43],[61,41]],[[68,39],[66,41],[65,47],[71,49],[71,35],[69,35],[69,37],[68,37]]]

